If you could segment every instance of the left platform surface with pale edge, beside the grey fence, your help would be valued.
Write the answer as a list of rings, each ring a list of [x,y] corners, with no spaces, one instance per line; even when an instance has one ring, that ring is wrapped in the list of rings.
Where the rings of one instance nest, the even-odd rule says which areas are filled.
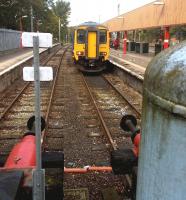
[[[40,53],[43,52],[45,48],[40,48]],[[22,48],[16,51],[10,51],[5,55],[0,56],[0,75],[6,73],[10,68],[14,68],[20,63],[33,57],[32,48]]]

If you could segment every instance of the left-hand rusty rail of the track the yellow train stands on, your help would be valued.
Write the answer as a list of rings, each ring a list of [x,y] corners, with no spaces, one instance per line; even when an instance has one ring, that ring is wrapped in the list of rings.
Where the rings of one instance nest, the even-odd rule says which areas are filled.
[[[98,106],[97,106],[97,104],[96,104],[96,100],[94,99],[94,97],[93,97],[93,95],[92,95],[91,89],[89,88],[89,86],[88,86],[88,84],[87,84],[87,82],[86,82],[86,80],[85,80],[85,78],[84,78],[83,75],[82,75],[82,79],[83,79],[83,81],[84,81],[84,84],[85,84],[85,86],[86,86],[88,92],[89,92],[89,95],[90,95],[91,100],[92,100],[92,102],[93,102],[93,104],[94,104],[94,107],[95,107],[96,110],[97,110],[99,119],[100,119],[101,124],[102,124],[102,127],[103,127],[103,129],[104,129],[104,131],[105,131],[105,133],[106,133],[106,135],[107,135],[107,137],[108,137],[108,140],[109,140],[110,144],[112,145],[112,148],[113,148],[114,150],[117,150],[117,149],[118,149],[118,146],[117,146],[116,142],[112,139],[111,133],[110,133],[110,131],[109,131],[109,129],[108,129],[108,127],[107,127],[107,125],[106,125],[104,119],[103,119],[103,116],[102,116],[102,114],[101,114],[101,111],[99,110],[99,108],[98,108]]]

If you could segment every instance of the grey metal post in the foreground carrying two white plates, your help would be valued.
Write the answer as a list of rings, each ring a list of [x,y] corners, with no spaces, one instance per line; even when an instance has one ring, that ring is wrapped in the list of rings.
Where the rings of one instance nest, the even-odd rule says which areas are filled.
[[[36,169],[33,172],[33,199],[45,199],[45,172],[41,166],[41,115],[40,115],[40,74],[39,74],[39,37],[33,37],[34,87],[35,87],[35,134],[36,134]]]

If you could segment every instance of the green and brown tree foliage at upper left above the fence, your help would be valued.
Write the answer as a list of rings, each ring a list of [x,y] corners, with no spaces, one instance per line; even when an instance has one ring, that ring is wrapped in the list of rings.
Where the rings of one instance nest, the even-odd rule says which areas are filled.
[[[62,0],[1,0],[0,28],[30,31],[31,6],[34,31],[51,32],[58,37],[58,19],[62,24],[62,36],[67,33],[70,3]],[[22,17],[24,16],[24,17]]]

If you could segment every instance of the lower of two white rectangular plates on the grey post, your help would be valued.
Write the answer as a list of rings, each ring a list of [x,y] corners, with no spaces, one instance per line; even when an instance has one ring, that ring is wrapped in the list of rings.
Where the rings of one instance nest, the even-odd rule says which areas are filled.
[[[40,81],[52,81],[53,69],[52,67],[39,67]],[[23,68],[23,80],[34,81],[34,67]]]

